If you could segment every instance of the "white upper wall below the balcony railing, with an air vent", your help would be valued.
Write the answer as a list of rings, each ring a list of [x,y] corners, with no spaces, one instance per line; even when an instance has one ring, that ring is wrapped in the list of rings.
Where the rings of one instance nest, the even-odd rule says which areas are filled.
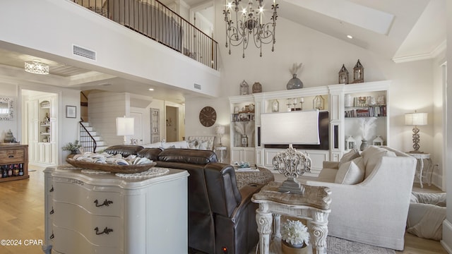
[[[0,26],[0,47],[19,52],[36,49],[39,52],[32,54],[49,60],[219,95],[218,71],[71,1],[1,1],[0,23],[8,24]],[[73,44],[95,51],[97,59],[73,55]],[[196,90],[194,83],[202,90]]]

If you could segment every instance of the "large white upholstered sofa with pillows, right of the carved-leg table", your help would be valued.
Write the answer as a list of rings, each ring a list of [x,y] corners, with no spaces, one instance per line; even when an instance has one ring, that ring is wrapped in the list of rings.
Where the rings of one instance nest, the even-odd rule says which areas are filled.
[[[299,180],[331,188],[328,235],[403,250],[415,169],[413,157],[371,146],[324,162],[318,178]]]

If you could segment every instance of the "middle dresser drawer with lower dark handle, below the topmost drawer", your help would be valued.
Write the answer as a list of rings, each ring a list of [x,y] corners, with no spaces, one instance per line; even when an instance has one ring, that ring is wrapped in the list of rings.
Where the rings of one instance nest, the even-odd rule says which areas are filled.
[[[78,205],[54,202],[53,228],[54,238],[60,237],[56,229],[69,229],[95,246],[123,248],[124,223],[120,217],[93,215]]]

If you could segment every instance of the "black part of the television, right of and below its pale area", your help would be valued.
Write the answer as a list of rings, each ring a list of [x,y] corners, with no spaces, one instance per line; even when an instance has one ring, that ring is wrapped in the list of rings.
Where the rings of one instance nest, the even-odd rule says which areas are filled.
[[[265,126],[261,126],[260,128],[265,128]],[[328,111],[320,111],[319,112],[319,145],[297,145],[293,144],[292,146],[297,150],[329,150],[329,133],[330,133],[330,119]],[[258,145],[261,145],[261,130],[258,128]],[[288,144],[263,144],[266,148],[278,148],[278,149],[286,149],[289,147]]]

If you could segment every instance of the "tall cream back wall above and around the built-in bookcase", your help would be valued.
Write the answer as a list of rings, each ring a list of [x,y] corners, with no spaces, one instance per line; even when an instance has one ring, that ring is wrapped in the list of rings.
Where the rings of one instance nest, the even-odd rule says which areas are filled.
[[[216,13],[221,13],[217,6]],[[412,127],[404,126],[404,114],[423,111],[433,116],[433,67],[432,60],[394,63],[366,49],[337,40],[310,28],[278,18],[275,52],[271,45],[264,46],[263,56],[250,45],[242,59],[241,47],[233,47],[227,53],[224,43],[224,21],[217,17],[216,30],[219,42],[221,66],[221,97],[218,99],[186,99],[187,135],[213,134],[213,128],[206,128],[198,121],[202,107],[211,106],[218,114],[217,123],[229,126],[230,111],[227,97],[239,95],[239,83],[246,80],[251,85],[258,81],[263,91],[286,90],[287,81],[292,78],[289,69],[293,63],[303,63],[298,77],[304,87],[333,85],[338,83],[338,71],[343,63],[352,73],[359,59],[364,66],[364,81],[392,80],[389,104],[391,107],[390,140],[396,149],[412,149]],[[350,75],[352,79],[352,75]],[[309,102],[306,102],[309,103]],[[215,123],[215,124],[217,124]],[[429,126],[421,128],[421,147],[434,153],[433,118]],[[228,131],[226,131],[228,133]],[[225,141],[229,137],[223,138]]]

